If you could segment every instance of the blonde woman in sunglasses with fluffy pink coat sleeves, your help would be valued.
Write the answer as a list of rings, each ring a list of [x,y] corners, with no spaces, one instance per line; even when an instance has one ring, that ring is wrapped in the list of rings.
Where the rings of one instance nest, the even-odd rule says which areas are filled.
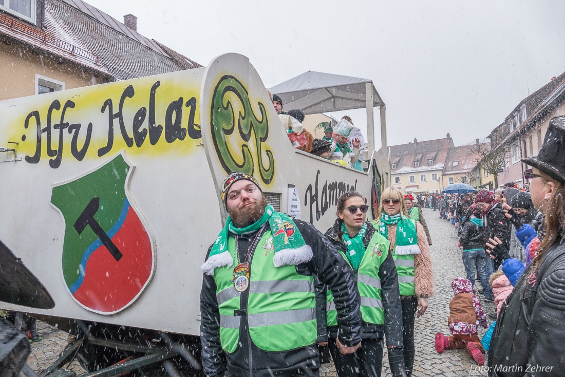
[[[402,339],[406,374],[414,366],[414,320],[428,308],[433,296],[432,259],[428,239],[419,222],[408,216],[401,190],[389,187],[381,195],[380,218],[372,223],[390,241],[390,253],[396,264],[402,303]]]

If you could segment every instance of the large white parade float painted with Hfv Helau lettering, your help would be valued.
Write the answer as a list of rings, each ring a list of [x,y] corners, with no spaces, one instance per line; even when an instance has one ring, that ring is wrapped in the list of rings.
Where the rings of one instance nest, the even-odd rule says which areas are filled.
[[[2,250],[45,291],[30,304],[2,271],[12,291],[0,307],[78,333],[51,374],[77,352],[108,376],[163,362],[199,369],[199,267],[227,216],[218,188],[229,172],[253,175],[276,210],[324,232],[347,190],[370,198],[374,215],[390,170],[372,144],[366,172],[295,150],[237,54],[10,99],[0,114]]]

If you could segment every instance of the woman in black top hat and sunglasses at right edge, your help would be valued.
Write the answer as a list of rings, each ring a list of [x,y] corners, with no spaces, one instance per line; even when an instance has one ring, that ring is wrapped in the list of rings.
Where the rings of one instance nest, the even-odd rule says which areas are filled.
[[[551,118],[540,153],[521,161],[533,167],[526,177],[545,223],[527,268],[498,237],[486,244],[514,285],[490,341],[490,375],[565,376],[565,116]]]

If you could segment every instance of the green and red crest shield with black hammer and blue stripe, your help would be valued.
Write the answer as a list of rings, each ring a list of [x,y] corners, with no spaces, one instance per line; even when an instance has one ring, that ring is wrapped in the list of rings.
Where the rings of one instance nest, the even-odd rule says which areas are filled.
[[[128,199],[133,170],[118,154],[51,192],[65,223],[63,279],[81,306],[101,314],[132,304],[154,271],[153,239]]]

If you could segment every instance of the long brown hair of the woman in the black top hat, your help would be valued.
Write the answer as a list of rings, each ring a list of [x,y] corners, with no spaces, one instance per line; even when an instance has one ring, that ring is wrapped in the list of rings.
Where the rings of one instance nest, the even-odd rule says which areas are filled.
[[[553,189],[553,194],[551,198],[547,200],[541,206],[541,212],[545,215],[545,236],[541,241],[540,247],[538,248],[537,258],[534,259],[533,263],[537,269],[540,266],[542,255],[554,244],[554,242],[563,237],[563,227],[561,224],[565,224],[565,184],[563,182],[553,179],[549,175],[540,171],[541,179],[544,183],[553,182],[555,188]]]

